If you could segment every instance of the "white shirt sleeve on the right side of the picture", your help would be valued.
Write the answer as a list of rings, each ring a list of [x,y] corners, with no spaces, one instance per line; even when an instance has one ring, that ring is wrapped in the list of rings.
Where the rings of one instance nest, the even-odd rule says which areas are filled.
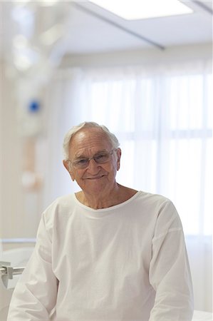
[[[150,284],[156,292],[150,321],[192,320],[193,290],[185,238],[179,215],[170,201],[157,218]]]

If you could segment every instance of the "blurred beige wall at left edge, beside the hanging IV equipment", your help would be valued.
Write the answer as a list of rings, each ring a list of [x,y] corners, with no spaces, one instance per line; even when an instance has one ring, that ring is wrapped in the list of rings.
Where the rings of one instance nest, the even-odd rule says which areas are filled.
[[[0,71],[0,238],[35,238],[38,218],[28,211],[33,206],[21,185],[23,138],[19,135],[15,83],[6,77],[4,61]],[[35,198],[32,193],[31,198]],[[14,246],[6,243],[4,249]]]

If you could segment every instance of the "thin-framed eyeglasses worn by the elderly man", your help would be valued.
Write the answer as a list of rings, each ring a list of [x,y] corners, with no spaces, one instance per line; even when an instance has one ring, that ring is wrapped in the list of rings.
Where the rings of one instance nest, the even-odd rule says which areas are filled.
[[[113,149],[112,151],[109,151],[109,152],[105,151],[101,153],[96,153],[93,157],[90,157],[90,158],[83,157],[83,158],[76,159],[76,161],[73,161],[73,162],[71,162],[71,160],[68,160],[68,161],[75,168],[87,168],[91,159],[93,159],[97,164],[107,163],[108,161],[110,161],[110,156],[113,154],[113,151],[116,151],[116,149]]]

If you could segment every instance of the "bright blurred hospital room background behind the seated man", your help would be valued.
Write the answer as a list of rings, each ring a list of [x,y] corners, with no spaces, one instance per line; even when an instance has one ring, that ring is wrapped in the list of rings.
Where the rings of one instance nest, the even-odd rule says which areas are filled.
[[[202,0],[1,1],[0,260],[25,264],[43,210],[78,190],[63,136],[96,121],[120,141],[118,183],[175,203],[195,309],[212,311],[212,12]]]

